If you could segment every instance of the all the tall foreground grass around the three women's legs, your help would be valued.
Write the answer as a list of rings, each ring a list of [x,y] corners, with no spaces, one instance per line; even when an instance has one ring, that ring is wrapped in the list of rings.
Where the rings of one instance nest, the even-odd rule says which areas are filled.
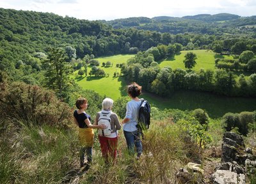
[[[186,127],[173,118],[152,120],[144,132],[143,155],[129,155],[120,131],[116,163],[106,165],[100,152],[97,131],[93,145],[93,164],[88,171],[79,168],[77,130],[49,125],[23,125],[1,144],[1,183],[177,183],[180,167],[201,157],[201,149],[191,141]],[[217,120],[211,122],[212,134],[219,134]],[[214,127],[214,124],[218,124]],[[7,138],[7,134],[4,135]],[[4,143],[1,139],[1,143]],[[216,139],[216,143],[219,143]]]

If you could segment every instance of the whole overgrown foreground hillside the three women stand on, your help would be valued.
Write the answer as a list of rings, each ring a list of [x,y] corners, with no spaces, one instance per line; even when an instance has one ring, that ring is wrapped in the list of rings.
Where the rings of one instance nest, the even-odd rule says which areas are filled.
[[[232,162],[234,166],[243,168],[244,160],[241,158],[245,155],[244,143],[246,150],[248,146],[252,148],[255,146],[255,130],[253,127],[247,127],[255,117],[255,112],[228,113],[221,120],[214,120],[209,118],[202,109],[159,111],[152,107],[151,124],[150,128],[144,131],[143,155],[140,159],[136,159],[135,155],[127,152],[124,133],[121,130],[118,136],[117,160],[115,164],[106,164],[100,152],[99,139],[95,130],[92,166],[89,169],[80,168],[81,145],[77,139],[78,129],[72,122],[74,109],[61,102],[53,92],[38,86],[17,82],[8,84],[2,81],[0,85],[1,87],[4,85],[4,88],[0,88],[0,183],[4,184],[100,184],[102,182],[142,184],[148,181],[177,183],[184,180],[186,182],[183,183],[187,183],[194,181],[191,178],[194,174],[190,173],[191,176],[185,171],[191,168],[189,165],[193,163],[196,167],[200,167],[200,178],[196,177],[198,171],[195,173],[198,183],[211,184],[212,174],[215,167],[220,164],[220,160],[222,161],[222,155],[229,160],[236,159],[239,166]],[[79,97],[79,94],[73,95]],[[83,92],[83,96],[88,98],[90,108],[86,112],[92,115],[93,120],[97,111],[100,110],[102,98],[90,90]],[[125,108],[124,104],[128,100],[115,102],[113,111],[121,118],[124,115],[120,113],[120,109]],[[230,152],[221,150],[221,143],[225,141],[223,138],[226,132],[225,122],[234,117],[239,119],[241,125],[232,129],[232,133],[227,132],[226,136],[235,135],[238,140],[228,139],[228,143],[237,143],[241,146],[235,149],[230,145],[232,153],[239,153],[239,157],[233,156],[234,154],[228,157]],[[236,124],[235,121],[232,123]],[[228,124],[227,128],[231,126],[232,124]],[[234,131],[242,132],[248,129],[250,133],[244,137],[244,141],[242,136],[234,133]],[[239,152],[241,150],[243,151]],[[253,160],[254,152],[254,149],[246,151],[245,157]],[[227,164],[227,166],[230,165]],[[236,170],[224,170],[236,173]],[[181,171],[185,172],[183,174],[189,178],[180,176]],[[248,172],[254,171],[253,167],[252,170],[241,169],[241,171],[246,174],[244,177],[246,176],[246,181],[250,184],[255,181],[255,174]],[[221,176],[230,177],[228,174]]]

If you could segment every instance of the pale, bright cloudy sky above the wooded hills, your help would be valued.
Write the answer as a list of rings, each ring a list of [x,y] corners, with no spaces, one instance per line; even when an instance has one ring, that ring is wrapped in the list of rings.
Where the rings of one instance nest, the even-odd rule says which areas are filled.
[[[0,8],[49,12],[86,20],[184,17],[204,13],[256,15],[255,0],[0,0]]]

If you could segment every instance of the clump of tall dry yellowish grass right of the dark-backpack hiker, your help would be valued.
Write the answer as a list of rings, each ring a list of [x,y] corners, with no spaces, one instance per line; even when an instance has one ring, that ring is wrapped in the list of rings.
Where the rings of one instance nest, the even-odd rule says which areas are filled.
[[[175,183],[175,173],[188,158],[182,130],[170,122],[155,122],[145,134],[143,156],[135,167],[145,183]]]

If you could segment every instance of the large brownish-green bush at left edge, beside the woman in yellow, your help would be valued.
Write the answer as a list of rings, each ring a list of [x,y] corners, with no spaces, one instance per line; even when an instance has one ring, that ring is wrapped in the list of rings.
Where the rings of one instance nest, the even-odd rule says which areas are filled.
[[[2,83],[3,84],[3,83]],[[19,125],[20,120],[37,125],[67,126],[72,113],[66,103],[57,99],[54,92],[36,85],[13,82],[0,88],[0,120]]]

